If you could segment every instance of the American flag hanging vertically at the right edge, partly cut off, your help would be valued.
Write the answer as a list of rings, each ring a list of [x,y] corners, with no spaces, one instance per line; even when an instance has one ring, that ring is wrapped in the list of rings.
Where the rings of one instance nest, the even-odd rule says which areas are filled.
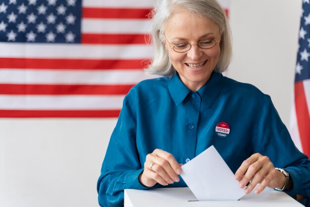
[[[310,0],[303,0],[295,68],[290,133],[296,146],[310,156]]]

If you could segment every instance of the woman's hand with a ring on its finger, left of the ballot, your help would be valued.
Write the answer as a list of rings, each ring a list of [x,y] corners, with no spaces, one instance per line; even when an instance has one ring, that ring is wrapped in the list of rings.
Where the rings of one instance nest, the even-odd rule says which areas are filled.
[[[153,153],[148,154],[144,163],[144,171],[139,176],[141,184],[152,187],[156,183],[168,185],[179,182],[181,174],[181,164],[179,164],[173,155],[163,150],[155,149]]]

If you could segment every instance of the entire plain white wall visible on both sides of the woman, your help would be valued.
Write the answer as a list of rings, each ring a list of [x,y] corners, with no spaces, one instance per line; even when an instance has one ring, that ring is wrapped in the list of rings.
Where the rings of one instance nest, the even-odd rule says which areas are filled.
[[[232,0],[228,76],[269,94],[289,123],[302,0]],[[0,207],[97,207],[116,119],[0,119]]]

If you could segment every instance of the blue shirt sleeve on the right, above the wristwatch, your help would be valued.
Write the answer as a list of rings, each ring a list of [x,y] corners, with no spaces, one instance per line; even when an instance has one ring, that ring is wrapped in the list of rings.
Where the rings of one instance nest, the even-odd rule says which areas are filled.
[[[269,96],[258,125],[259,140],[256,151],[268,156],[275,167],[285,168],[293,179],[294,188],[286,193],[310,198],[310,160],[295,147]]]

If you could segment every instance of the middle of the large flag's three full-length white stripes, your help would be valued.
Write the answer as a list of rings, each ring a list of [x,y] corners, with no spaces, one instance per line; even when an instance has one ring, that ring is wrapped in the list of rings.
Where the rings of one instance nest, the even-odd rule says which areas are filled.
[[[73,71],[0,69],[0,83],[2,84],[133,85],[155,77],[159,76],[146,75],[141,69]]]

